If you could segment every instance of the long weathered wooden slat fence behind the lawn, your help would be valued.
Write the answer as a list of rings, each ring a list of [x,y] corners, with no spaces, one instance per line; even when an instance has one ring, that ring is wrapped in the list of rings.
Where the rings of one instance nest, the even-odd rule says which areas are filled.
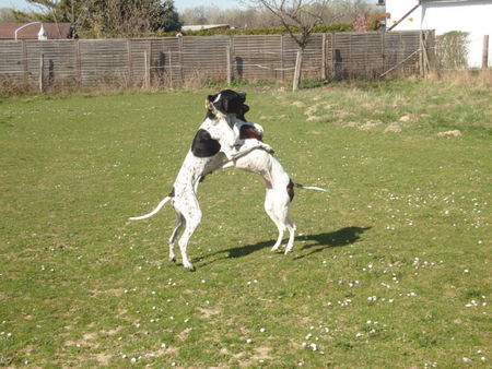
[[[303,78],[375,78],[396,66],[414,74],[420,39],[419,32],[316,34],[305,50]],[[288,35],[2,40],[0,81],[149,87],[291,80],[296,51]]]

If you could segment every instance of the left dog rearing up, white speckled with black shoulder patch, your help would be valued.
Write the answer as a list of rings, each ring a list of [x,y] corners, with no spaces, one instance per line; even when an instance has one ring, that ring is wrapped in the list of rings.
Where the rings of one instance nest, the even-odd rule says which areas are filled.
[[[202,177],[222,166],[225,162],[237,159],[255,148],[272,153],[273,150],[260,142],[251,142],[237,148],[239,132],[234,130],[236,117],[243,118],[249,107],[244,104],[246,94],[225,90],[206,99],[208,110],[206,120],[200,126],[191,148],[176,177],[171,193],[149,214],[131,217],[131,221],[148,218],[157,213],[171,200],[176,212],[176,227],[169,238],[169,260],[176,261],[174,246],[176,240],[181,252],[183,265],[194,271],[186,248],[195,229],[201,222],[201,210],[198,204],[197,189]],[[183,235],[179,234],[185,227]],[[179,238],[179,239],[178,239]]]

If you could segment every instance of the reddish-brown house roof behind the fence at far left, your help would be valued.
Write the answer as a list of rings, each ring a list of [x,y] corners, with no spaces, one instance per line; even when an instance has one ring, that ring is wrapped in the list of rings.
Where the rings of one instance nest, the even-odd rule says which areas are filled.
[[[0,23],[0,39],[14,39],[15,29],[27,23]],[[40,24],[35,23],[17,32],[17,39],[37,39]],[[43,23],[48,39],[70,38],[70,23]]]

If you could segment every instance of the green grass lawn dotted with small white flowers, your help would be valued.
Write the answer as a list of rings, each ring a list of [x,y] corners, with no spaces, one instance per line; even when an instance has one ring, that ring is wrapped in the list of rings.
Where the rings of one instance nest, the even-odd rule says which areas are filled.
[[[0,99],[0,366],[489,367],[492,92],[429,81],[246,87],[304,184],[292,254],[259,177],[171,190],[210,91]],[[179,261],[179,253],[178,253]]]

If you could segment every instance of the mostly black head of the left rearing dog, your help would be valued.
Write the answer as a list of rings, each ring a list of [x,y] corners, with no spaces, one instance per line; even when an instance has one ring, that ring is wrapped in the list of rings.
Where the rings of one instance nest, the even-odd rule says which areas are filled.
[[[249,106],[244,104],[246,94],[233,90],[223,90],[215,95],[209,95],[206,99],[206,108],[216,117],[235,115],[242,120],[246,120],[244,115],[249,110]]]

